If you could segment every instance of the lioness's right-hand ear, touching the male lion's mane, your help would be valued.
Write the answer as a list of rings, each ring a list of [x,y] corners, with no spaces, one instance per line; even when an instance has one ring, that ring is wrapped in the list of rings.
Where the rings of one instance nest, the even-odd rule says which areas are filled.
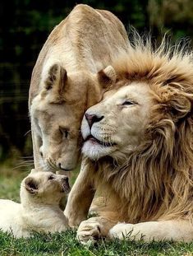
[[[100,70],[97,74],[99,84],[103,87],[103,89],[108,88],[108,86],[112,86],[115,83],[117,75],[112,66],[105,67]]]

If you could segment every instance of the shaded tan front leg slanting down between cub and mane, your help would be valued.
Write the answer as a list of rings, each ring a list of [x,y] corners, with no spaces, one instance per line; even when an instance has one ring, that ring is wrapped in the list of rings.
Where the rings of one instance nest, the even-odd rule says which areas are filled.
[[[71,189],[64,210],[69,226],[78,226],[88,215],[90,204],[94,198],[94,185],[90,178],[90,167],[82,161],[80,174]]]

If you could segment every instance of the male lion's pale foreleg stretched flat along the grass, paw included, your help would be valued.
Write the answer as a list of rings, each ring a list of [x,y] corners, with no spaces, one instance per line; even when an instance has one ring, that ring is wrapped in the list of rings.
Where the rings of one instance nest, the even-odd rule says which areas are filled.
[[[148,221],[138,224],[119,223],[109,231],[108,237],[120,240],[173,240],[193,241],[193,226],[191,221]]]

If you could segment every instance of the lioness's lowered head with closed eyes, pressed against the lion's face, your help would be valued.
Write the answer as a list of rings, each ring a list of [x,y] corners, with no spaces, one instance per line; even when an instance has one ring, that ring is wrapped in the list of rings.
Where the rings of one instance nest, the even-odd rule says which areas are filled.
[[[86,109],[101,100],[113,81],[113,67],[97,74],[69,72],[58,63],[44,72],[30,116],[34,155],[43,170],[73,170],[80,155],[80,123]],[[45,77],[45,78],[44,78]],[[38,155],[38,156],[37,156]]]

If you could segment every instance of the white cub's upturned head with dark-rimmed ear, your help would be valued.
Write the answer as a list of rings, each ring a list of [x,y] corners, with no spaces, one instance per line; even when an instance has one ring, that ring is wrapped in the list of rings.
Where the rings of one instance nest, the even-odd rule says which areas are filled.
[[[70,192],[67,176],[32,170],[21,182],[21,202],[58,204]]]

